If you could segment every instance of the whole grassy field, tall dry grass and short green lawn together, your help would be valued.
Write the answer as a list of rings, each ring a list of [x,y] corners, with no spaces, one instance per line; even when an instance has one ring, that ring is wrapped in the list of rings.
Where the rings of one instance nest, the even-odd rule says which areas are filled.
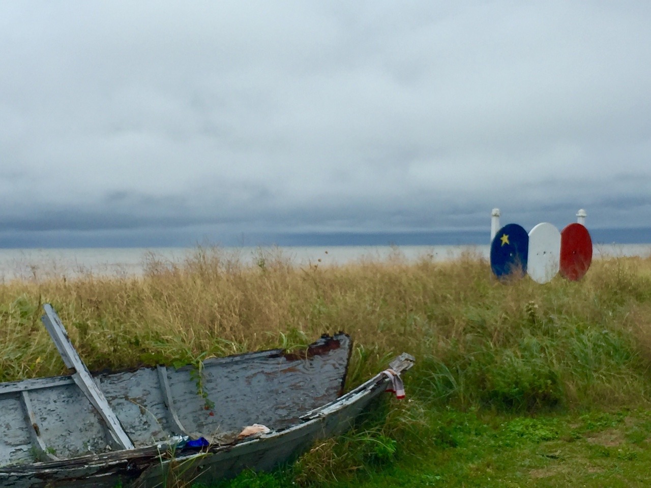
[[[487,262],[295,267],[199,248],[149,256],[143,277],[38,277],[0,286],[0,381],[62,373],[40,324],[52,303],[91,370],[354,342],[348,386],[402,351],[408,399],[272,474],[220,487],[646,486],[651,482],[651,258],[501,284]]]

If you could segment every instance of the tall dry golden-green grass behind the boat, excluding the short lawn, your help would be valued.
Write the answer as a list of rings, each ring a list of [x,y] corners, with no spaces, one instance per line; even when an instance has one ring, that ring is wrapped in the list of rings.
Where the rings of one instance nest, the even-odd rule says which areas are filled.
[[[452,262],[255,264],[197,248],[181,264],[148,256],[142,277],[64,275],[0,286],[0,381],[64,371],[40,323],[61,316],[91,370],[178,364],[324,332],[355,342],[351,384],[407,351],[423,401],[537,409],[639,402],[651,385],[651,258],[597,260],[580,282],[505,285],[473,254]]]

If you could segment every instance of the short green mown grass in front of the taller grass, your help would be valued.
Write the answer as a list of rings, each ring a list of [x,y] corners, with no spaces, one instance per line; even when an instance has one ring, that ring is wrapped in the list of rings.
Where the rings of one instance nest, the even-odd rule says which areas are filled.
[[[512,416],[485,411],[433,411],[421,449],[400,444],[371,456],[341,480],[307,485],[390,487],[643,487],[651,481],[651,412],[555,413]],[[426,445],[426,448],[423,448]],[[360,449],[360,446],[357,447]],[[407,451],[407,452],[403,452]],[[380,461],[380,462],[378,462]],[[286,487],[304,478],[301,461],[271,474],[244,472],[218,488]],[[303,478],[301,478],[303,476]]]

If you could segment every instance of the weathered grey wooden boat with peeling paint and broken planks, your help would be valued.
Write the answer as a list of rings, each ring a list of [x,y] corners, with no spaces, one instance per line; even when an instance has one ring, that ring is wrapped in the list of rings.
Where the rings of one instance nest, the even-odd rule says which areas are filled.
[[[343,333],[301,353],[91,375],[53,308],[44,308],[70,375],[0,384],[2,487],[150,488],[268,470],[348,429],[414,360],[403,353],[346,394],[352,344]]]

